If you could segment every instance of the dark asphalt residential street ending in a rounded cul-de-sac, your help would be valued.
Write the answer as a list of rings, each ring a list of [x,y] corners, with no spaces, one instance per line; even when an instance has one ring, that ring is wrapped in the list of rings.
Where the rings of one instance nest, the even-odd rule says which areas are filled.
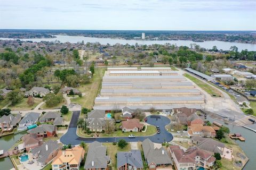
[[[128,138],[128,137],[107,137],[107,138],[81,138],[78,137],[76,134],[76,129],[77,129],[77,121],[79,118],[80,111],[74,111],[73,116],[71,118],[71,122],[69,125],[68,132],[64,134],[61,138],[60,141],[65,144],[71,144],[71,145],[78,145],[81,143],[81,141],[84,141],[85,143],[91,143],[94,141],[98,142],[115,142],[118,141],[119,139],[124,139],[127,142],[138,142],[138,141],[143,141],[145,139],[150,139],[151,141],[155,143],[163,143],[163,142],[169,142],[173,139],[173,136],[170,132],[166,131],[165,126],[169,124],[171,121],[169,118],[161,115],[150,115],[148,116],[148,124],[151,125],[157,125],[159,126],[161,133],[160,134],[154,134],[148,137],[136,137],[136,138]]]

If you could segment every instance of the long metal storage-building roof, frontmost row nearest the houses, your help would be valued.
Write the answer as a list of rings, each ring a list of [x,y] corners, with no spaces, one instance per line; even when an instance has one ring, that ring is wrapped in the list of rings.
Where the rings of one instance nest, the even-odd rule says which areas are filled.
[[[182,97],[96,97],[95,102],[99,101],[198,101],[203,100],[201,96],[182,96]]]

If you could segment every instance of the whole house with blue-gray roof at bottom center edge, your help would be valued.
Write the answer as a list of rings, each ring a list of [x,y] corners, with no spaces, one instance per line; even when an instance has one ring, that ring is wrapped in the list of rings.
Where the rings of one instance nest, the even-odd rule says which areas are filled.
[[[143,161],[140,150],[131,150],[130,152],[117,152],[118,170],[142,170]]]

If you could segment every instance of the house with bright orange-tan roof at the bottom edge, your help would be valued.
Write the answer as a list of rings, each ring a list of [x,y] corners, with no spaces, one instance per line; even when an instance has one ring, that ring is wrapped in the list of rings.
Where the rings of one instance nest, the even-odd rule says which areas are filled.
[[[85,150],[81,146],[71,149],[59,150],[57,156],[52,161],[52,169],[72,169],[79,170],[84,159]]]

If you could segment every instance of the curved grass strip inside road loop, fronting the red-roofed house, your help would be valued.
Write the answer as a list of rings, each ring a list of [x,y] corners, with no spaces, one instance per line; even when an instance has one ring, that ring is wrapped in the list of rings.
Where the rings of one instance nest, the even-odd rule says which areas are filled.
[[[134,135],[135,137],[145,137],[156,134],[156,127],[153,125],[147,125],[146,132],[122,132],[122,130],[117,130],[116,132],[107,133],[97,133],[99,137],[128,137],[129,135]],[[77,135],[82,138],[91,138],[95,133],[87,134],[82,128],[77,128]]]

